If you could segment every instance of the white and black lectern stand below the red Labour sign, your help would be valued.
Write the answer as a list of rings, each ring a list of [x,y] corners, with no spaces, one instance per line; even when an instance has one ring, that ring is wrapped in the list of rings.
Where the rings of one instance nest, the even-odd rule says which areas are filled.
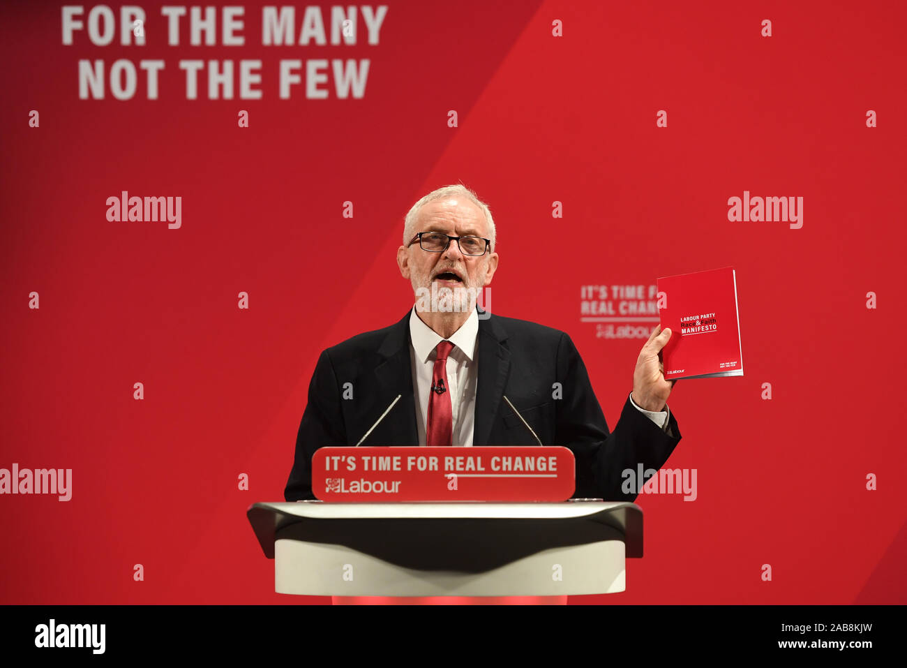
[[[314,596],[563,596],[625,588],[642,509],[560,503],[257,503],[275,591]]]

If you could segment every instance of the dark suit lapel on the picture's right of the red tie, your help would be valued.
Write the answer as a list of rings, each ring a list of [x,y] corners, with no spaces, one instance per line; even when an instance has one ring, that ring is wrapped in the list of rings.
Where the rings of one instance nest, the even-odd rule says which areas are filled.
[[[481,312],[481,311],[480,311]],[[494,416],[501,406],[511,352],[502,345],[507,333],[498,319],[489,314],[479,320],[479,378],[475,390],[475,426],[473,445],[487,446]]]

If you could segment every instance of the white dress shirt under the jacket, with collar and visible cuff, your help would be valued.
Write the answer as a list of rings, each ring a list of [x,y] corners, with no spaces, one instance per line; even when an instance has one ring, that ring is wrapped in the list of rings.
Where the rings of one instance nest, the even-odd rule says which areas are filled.
[[[412,345],[409,349],[411,367],[413,368],[413,391],[418,400],[415,402],[416,427],[419,432],[419,445],[425,445],[425,431],[428,425],[428,396],[434,376],[434,359],[437,357],[437,346],[444,339],[434,329],[426,325],[416,315],[415,307],[409,316],[409,334]],[[469,318],[460,329],[453,332],[450,339],[453,349],[447,356],[447,388],[451,398],[453,412],[454,446],[472,446],[475,427],[475,390],[479,379],[479,314],[473,309]],[[633,401],[630,392],[629,402],[658,427],[668,424],[669,408],[665,410],[645,410]]]

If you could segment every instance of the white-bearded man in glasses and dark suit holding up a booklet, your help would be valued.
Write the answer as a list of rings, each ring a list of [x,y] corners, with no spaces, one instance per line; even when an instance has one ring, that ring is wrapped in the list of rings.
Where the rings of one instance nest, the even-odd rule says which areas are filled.
[[[680,440],[667,407],[676,381],[665,380],[659,361],[670,329],[656,328],[640,351],[633,390],[610,432],[567,334],[484,311],[480,317],[474,308],[498,253],[491,211],[473,192],[454,185],[425,195],[406,215],[403,241],[397,265],[412,282],[414,308],[395,325],[321,353],[287,500],[315,498],[313,453],[355,446],[397,395],[362,445],[536,445],[506,397],[543,445],[572,450],[573,496],[636,498],[638,489],[621,489],[622,472],[640,464],[657,470]]]

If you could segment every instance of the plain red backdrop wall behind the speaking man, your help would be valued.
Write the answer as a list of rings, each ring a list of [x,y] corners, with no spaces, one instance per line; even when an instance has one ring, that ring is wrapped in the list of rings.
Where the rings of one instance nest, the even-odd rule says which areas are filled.
[[[610,427],[644,339],[597,336],[581,286],[737,270],[746,376],[668,400],[697,499],[640,496],[628,591],[571,602],[907,602],[904,5],[387,5],[378,44],[262,46],[247,2],[245,45],[169,46],[146,2],[141,47],[4,5],[0,467],[72,468],[73,496],[0,496],[0,602],[326,602],[274,594],[245,511],[282,500],[320,350],[411,306],[405,211],[461,181],[498,227],[491,309],[567,331]],[[78,61],[120,58],[165,61],[159,99],[79,99]],[[187,100],[183,58],[262,60],[262,99]],[[281,100],[285,58],[367,58],[365,94]],[[107,221],[124,190],[181,196],[180,229]],[[745,190],[803,227],[728,221]]]

